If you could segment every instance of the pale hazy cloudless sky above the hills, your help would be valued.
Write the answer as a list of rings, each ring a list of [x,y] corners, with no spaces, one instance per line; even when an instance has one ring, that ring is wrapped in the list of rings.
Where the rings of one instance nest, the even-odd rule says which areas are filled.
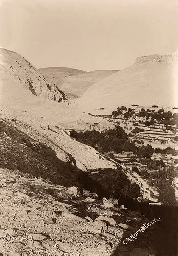
[[[123,69],[178,45],[177,0],[0,0],[0,47],[36,68]]]

